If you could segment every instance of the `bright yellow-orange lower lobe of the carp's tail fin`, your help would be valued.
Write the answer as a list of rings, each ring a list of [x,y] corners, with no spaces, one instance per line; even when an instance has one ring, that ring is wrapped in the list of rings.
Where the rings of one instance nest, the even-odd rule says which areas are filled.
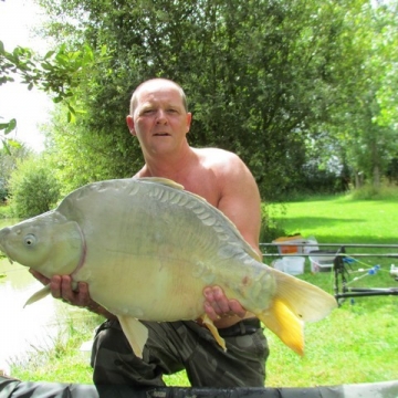
[[[275,297],[270,308],[255,315],[287,347],[301,356],[304,355],[303,322],[282,300]]]

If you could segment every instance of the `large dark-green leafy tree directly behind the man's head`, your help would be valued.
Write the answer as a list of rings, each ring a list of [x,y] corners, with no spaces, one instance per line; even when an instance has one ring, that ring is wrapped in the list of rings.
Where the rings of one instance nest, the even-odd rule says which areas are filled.
[[[360,41],[369,22],[365,0],[40,2],[53,18],[49,34],[106,44],[112,53],[78,92],[86,112],[80,126],[67,128],[84,153],[102,147],[98,177],[105,164],[113,177],[140,166],[125,127],[128,100],[143,80],[165,76],[187,92],[191,144],[238,153],[264,198],[283,197],[300,189],[310,150],[325,142],[320,132],[334,145],[328,154],[336,147],[341,115],[364,83],[357,71],[368,55]],[[78,157],[69,151],[65,167]]]

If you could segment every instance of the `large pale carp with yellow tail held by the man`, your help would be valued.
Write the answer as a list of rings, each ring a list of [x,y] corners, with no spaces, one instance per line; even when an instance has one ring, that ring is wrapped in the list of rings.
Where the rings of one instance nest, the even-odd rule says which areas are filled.
[[[303,354],[303,322],[336,306],[323,290],[262,263],[221,211],[174,181],[115,179],[84,186],[46,213],[0,230],[0,250],[48,277],[88,284],[142,356],[138,321],[202,318],[203,287],[219,285],[289,347]],[[33,295],[32,303],[50,292]]]

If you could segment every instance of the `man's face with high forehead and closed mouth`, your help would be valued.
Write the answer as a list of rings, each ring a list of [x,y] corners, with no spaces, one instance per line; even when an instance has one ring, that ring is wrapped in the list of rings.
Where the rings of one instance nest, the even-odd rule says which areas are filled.
[[[134,114],[127,116],[144,155],[165,155],[178,149],[189,132],[191,114],[171,83],[147,83],[139,88]]]

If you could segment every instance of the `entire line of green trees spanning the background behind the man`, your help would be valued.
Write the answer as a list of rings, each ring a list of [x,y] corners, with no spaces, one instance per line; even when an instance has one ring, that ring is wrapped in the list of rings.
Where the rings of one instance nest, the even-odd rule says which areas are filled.
[[[38,2],[64,49],[106,48],[71,83],[78,117],[60,109],[48,126],[65,191],[140,167],[125,116],[154,76],[185,88],[190,144],[239,154],[266,200],[398,179],[396,0]]]

